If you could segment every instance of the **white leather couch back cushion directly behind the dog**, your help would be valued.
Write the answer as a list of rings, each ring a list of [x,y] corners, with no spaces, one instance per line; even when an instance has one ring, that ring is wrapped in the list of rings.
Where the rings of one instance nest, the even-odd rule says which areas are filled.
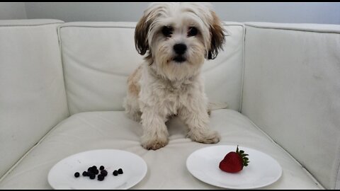
[[[60,26],[62,61],[71,114],[124,110],[128,75],[143,62],[135,50],[136,23],[78,22]],[[225,23],[225,51],[203,66],[205,92],[212,102],[239,110],[244,25]]]

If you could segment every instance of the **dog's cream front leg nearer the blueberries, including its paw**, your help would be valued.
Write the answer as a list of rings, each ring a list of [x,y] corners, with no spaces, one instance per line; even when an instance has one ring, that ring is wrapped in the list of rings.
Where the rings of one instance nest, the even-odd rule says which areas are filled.
[[[142,111],[142,146],[145,149],[157,150],[168,144],[168,129],[165,125],[166,117],[159,115],[152,108]]]

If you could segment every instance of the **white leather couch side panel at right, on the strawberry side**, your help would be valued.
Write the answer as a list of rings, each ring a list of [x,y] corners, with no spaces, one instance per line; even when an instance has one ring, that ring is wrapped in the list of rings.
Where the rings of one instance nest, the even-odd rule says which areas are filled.
[[[324,187],[336,187],[339,25],[247,23],[245,55],[242,113]]]

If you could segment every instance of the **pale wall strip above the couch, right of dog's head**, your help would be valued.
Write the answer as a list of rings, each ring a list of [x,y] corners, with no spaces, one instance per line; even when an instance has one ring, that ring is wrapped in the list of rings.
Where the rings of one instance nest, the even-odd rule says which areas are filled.
[[[227,21],[340,24],[340,3],[214,3]]]

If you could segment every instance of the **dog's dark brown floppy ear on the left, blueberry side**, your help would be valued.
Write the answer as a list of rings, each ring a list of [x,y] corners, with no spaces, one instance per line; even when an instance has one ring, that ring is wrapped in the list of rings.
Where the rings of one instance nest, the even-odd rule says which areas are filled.
[[[147,40],[147,33],[149,32],[149,26],[152,21],[148,20],[149,14],[146,12],[144,16],[140,18],[135,29],[135,47],[139,54],[144,55],[149,50],[149,43]]]

